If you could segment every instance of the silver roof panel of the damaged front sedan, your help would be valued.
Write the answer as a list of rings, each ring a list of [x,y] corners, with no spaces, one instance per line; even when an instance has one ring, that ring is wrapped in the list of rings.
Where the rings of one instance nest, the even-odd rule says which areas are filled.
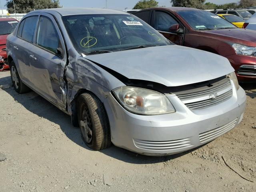
[[[82,15],[82,14],[129,14],[123,11],[111,10],[111,9],[98,9],[98,8],[54,8],[54,9],[42,9],[35,10],[30,13],[47,12],[56,14],[56,12],[62,16],[67,15]]]

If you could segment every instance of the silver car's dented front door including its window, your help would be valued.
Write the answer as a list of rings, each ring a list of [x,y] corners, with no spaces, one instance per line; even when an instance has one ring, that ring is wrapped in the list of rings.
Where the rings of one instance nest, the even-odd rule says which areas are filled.
[[[29,59],[34,89],[59,108],[65,108],[66,50],[58,24],[50,14],[39,16]]]

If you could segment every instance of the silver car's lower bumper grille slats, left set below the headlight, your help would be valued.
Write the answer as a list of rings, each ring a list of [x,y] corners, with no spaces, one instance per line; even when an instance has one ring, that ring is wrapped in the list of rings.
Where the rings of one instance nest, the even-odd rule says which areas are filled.
[[[189,138],[172,141],[145,141],[134,139],[136,147],[148,150],[175,150],[191,147]]]

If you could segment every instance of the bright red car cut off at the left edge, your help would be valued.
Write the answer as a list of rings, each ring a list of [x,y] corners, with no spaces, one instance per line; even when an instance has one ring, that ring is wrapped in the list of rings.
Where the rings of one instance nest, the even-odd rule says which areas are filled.
[[[0,71],[9,69],[6,58],[6,38],[11,34],[18,21],[14,18],[0,18]]]

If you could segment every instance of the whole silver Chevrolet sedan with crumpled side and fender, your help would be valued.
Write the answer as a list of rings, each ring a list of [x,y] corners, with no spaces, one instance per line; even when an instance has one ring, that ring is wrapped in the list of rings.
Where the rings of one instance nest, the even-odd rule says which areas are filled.
[[[131,14],[36,10],[7,39],[12,82],[71,116],[94,150],[186,151],[230,131],[246,95],[229,61],[177,46]]]

